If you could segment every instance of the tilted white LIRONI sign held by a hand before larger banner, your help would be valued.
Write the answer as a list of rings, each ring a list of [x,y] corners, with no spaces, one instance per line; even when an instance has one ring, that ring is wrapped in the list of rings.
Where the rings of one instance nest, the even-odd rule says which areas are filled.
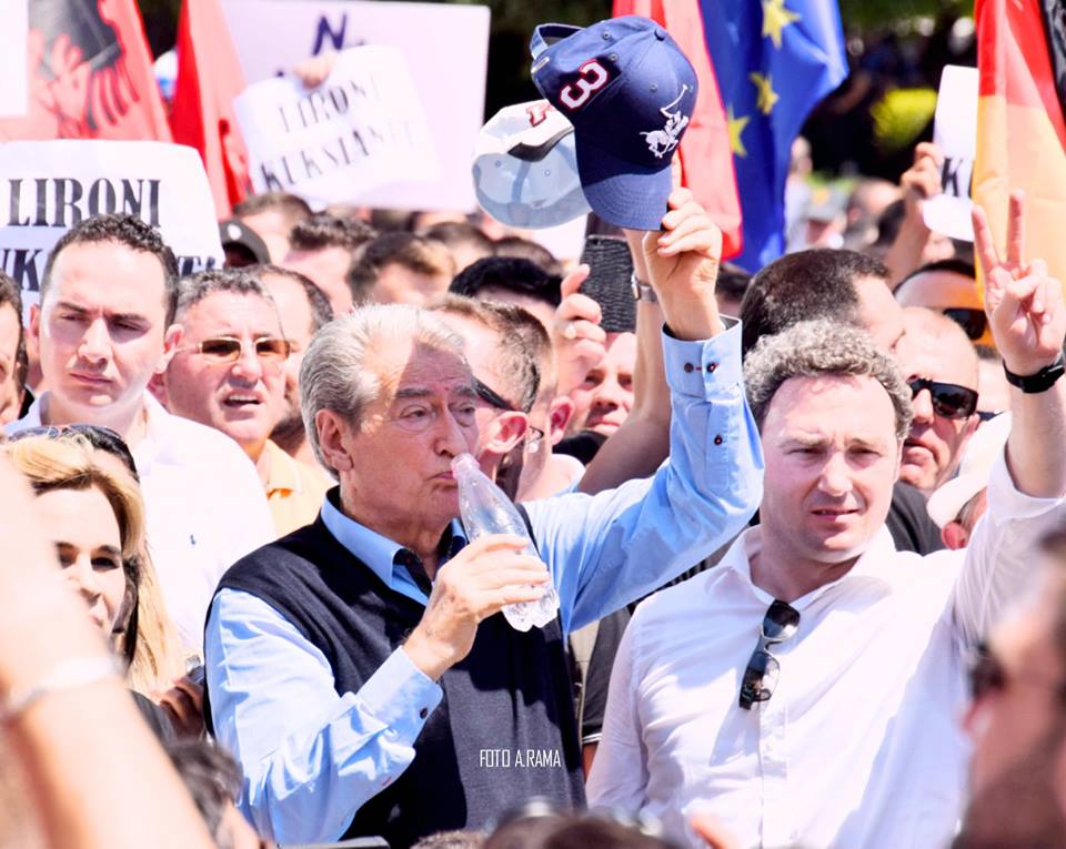
[[[259,193],[292,192],[315,206],[366,203],[382,185],[438,176],[425,114],[398,48],[345,50],[321,85],[264,80],[234,107]]]

